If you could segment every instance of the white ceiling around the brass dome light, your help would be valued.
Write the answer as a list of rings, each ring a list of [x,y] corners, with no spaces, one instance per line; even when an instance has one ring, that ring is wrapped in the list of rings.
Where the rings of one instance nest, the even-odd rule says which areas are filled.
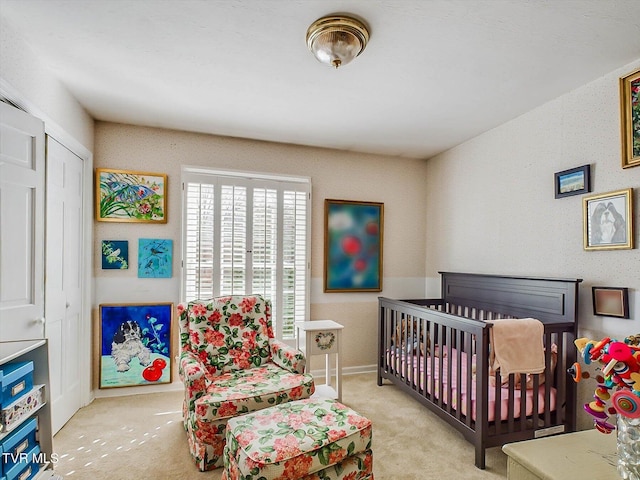
[[[305,35],[337,12],[371,39],[334,70]],[[0,15],[98,120],[412,158],[640,58],[640,0],[0,0]]]

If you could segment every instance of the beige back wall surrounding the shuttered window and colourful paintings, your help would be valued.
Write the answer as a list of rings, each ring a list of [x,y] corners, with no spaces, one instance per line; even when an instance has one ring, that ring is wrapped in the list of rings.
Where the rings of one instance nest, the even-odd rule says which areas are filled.
[[[95,166],[166,173],[169,208],[166,225],[95,223],[96,305],[179,301],[181,165],[311,177],[311,318],[344,324],[343,365],[347,371],[373,368],[378,296],[422,296],[425,292],[426,162],[98,122]],[[384,203],[381,293],[323,292],[325,198]],[[137,278],[138,238],[173,239],[173,278]],[[102,240],[129,241],[129,270],[101,269]],[[314,361],[314,369],[321,366],[319,360]]]

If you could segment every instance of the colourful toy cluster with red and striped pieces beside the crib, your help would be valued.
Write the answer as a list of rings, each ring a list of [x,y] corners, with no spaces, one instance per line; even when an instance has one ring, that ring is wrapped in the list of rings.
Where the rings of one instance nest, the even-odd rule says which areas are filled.
[[[598,386],[593,401],[585,403],[585,412],[594,419],[594,427],[602,433],[611,433],[615,426],[608,422],[609,415],[619,414],[640,418],[640,334],[631,335],[620,342],[605,337],[599,342],[579,338],[574,344],[586,365],[597,363],[602,375],[596,376]],[[578,362],[567,369],[574,382],[589,378]],[[611,401],[612,406],[607,407]]]

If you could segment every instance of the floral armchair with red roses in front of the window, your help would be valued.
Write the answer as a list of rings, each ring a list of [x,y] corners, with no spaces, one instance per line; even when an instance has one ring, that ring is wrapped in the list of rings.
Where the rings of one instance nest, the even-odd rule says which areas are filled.
[[[315,386],[302,352],[273,337],[261,296],[195,300],[177,311],[189,450],[201,471],[212,470],[224,463],[229,418],[307,398]]]

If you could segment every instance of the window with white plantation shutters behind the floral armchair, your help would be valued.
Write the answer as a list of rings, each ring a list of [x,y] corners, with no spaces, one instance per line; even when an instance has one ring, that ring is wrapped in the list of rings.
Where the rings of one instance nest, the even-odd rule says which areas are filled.
[[[184,167],[182,297],[256,293],[275,335],[309,318],[309,178]]]

